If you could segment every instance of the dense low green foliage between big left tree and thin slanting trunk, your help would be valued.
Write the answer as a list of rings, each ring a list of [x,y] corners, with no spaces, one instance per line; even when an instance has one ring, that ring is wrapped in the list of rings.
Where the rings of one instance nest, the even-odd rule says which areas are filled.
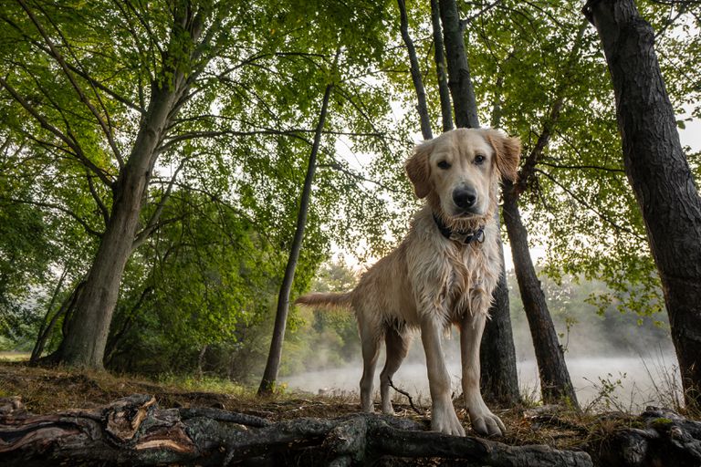
[[[220,374],[246,379],[264,352],[260,337],[287,252],[236,210],[197,192],[173,192],[164,215],[180,222],[160,229],[131,259],[112,323],[110,365],[182,373],[207,348],[208,360],[225,360]],[[300,258],[296,295],[323,258],[310,253]],[[227,369],[226,359],[237,361],[235,368]]]

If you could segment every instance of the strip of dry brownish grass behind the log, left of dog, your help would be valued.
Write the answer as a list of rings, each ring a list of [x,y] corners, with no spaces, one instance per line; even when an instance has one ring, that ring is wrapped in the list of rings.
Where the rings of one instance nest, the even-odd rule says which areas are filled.
[[[147,379],[106,371],[0,363],[0,397],[19,396],[26,409],[33,413],[94,408],[135,393],[153,395],[163,408],[218,407],[271,420],[302,416],[332,417],[354,413],[359,409],[354,395],[320,397],[285,391],[259,399],[253,388],[212,377],[196,379],[169,374]]]

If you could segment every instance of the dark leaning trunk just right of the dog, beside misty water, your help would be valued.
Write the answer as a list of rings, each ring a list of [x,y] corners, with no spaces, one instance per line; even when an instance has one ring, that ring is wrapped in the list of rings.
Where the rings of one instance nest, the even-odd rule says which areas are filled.
[[[504,223],[514,258],[523,307],[528,317],[530,336],[536,350],[543,402],[558,403],[569,400],[577,407],[565,356],[552,324],[545,295],[528,251],[528,232],[518,212],[518,197],[511,182],[504,183]]]

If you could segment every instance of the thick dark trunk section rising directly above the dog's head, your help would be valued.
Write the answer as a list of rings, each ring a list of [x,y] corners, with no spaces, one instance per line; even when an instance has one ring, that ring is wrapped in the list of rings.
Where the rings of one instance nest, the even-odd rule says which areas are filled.
[[[440,0],[439,7],[448,65],[448,86],[455,108],[455,125],[457,128],[479,128],[475,89],[467,65],[465,39],[457,5],[455,0]]]

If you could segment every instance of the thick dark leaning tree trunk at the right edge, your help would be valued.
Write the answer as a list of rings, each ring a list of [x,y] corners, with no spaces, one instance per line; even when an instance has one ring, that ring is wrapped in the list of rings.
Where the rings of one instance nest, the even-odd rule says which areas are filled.
[[[701,407],[701,199],[654,53],[633,0],[589,1],[611,73],[623,166],[664,290],[685,401]]]

